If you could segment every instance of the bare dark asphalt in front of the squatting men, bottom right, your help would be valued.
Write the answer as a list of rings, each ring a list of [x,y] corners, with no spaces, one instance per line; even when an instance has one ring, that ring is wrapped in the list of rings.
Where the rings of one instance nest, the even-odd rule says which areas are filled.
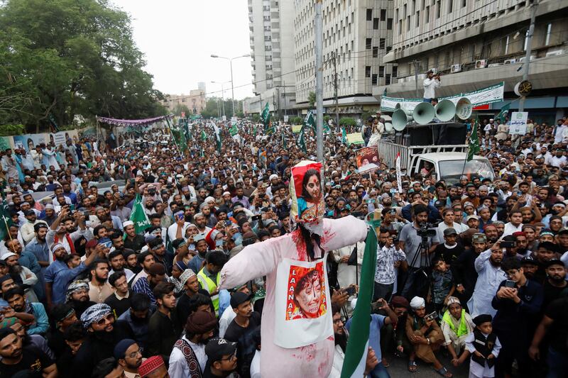
[[[466,360],[463,365],[459,367],[454,367],[452,362],[450,362],[449,357],[444,356],[444,352],[438,351],[436,352],[436,356],[439,358],[440,362],[444,364],[446,369],[449,372],[454,374],[454,378],[467,378],[469,376],[469,360]],[[388,373],[391,374],[393,378],[440,378],[442,377],[439,375],[432,365],[427,364],[426,362],[422,362],[420,360],[416,360],[416,364],[418,365],[418,369],[416,372],[411,373],[408,371],[408,357],[404,355],[403,357],[394,357],[389,356],[388,361],[391,363],[391,366],[388,367]]]

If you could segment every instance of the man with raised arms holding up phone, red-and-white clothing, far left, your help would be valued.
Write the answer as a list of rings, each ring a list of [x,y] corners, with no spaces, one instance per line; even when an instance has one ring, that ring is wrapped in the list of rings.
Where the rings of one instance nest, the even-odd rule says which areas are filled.
[[[84,214],[80,211],[75,211],[73,216],[69,216],[69,206],[62,206],[58,218],[51,224],[48,234],[45,239],[48,241],[48,246],[52,248],[54,244],[61,244],[67,253],[75,253],[75,241],[81,237],[91,240],[94,238],[93,233],[84,221]],[[79,229],[75,227],[75,221]],[[61,226],[60,226],[61,225]]]

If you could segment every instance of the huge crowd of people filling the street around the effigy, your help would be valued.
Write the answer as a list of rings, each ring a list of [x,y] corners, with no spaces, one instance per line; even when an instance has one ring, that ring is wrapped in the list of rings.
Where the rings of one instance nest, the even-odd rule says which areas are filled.
[[[221,272],[294,230],[290,168],[315,160],[315,138],[304,149],[289,126],[268,135],[244,121],[231,136],[219,121],[218,143],[213,123],[189,125],[187,148],[156,127],[0,152],[0,377],[260,377],[266,278],[226,290]],[[365,219],[378,236],[369,377],[389,377],[394,358],[417,376],[427,365],[443,377],[462,364],[470,377],[568,371],[568,121],[531,121],[515,138],[506,122],[483,123],[494,181],[403,171],[400,192],[394,167],[359,174],[358,147],[325,137],[325,217]],[[364,250],[326,251],[331,377]]]

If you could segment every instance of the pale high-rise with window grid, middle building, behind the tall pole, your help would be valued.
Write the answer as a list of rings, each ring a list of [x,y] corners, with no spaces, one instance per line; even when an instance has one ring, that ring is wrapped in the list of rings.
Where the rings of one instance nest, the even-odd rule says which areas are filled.
[[[296,101],[305,112],[315,92],[314,1],[295,0],[294,9]],[[378,109],[373,86],[396,76],[383,63],[393,40],[393,0],[323,0],[322,13],[326,113],[335,111],[336,82],[339,116]]]

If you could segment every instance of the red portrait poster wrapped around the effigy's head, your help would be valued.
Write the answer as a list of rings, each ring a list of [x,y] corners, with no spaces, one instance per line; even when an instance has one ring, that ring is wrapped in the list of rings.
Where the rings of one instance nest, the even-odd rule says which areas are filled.
[[[303,160],[292,167],[290,216],[295,223],[310,223],[323,218],[325,214],[322,192],[322,164]]]

